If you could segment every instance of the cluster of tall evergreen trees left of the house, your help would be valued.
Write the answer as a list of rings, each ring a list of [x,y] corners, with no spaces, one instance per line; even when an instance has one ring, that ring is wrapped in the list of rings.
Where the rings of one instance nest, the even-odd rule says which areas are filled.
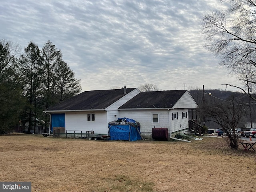
[[[37,124],[47,127],[43,110],[80,91],[80,80],[52,42],[40,50],[30,41],[20,55],[18,45],[0,40],[0,132],[18,124],[27,124],[28,133]]]

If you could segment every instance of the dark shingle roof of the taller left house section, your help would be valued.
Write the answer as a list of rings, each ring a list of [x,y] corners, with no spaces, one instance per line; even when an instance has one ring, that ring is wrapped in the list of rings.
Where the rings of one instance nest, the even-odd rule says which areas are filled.
[[[134,89],[135,88],[127,88],[126,93],[128,94]],[[49,107],[46,111],[103,110],[123,96],[125,96],[124,89],[85,91],[64,102]]]

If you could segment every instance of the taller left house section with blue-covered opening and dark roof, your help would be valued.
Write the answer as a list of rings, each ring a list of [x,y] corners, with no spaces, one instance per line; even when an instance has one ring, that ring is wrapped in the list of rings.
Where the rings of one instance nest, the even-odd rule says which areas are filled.
[[[140,93],[137,88],[82,92],[46,109],[50,114],[50,131],[61,128],[63,133],[94,131],[108,134],[108,122],[119,117],[118,108]]]

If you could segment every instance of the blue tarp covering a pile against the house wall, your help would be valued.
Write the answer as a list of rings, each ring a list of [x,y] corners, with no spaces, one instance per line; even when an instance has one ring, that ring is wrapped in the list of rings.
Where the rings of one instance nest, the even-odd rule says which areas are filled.
[[[140,140],[140,123],[129,118],[118,118],[108,123],[110,140]]]

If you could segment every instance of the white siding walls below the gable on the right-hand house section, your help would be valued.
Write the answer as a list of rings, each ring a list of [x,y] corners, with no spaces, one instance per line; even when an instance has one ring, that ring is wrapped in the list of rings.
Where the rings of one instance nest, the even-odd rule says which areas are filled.
[[[178,119],[172,120],[172,113],[177,114]],[[187,116],[182,118],[182,112]],[[132,118],[140,122],[140,132],[142,134],[151,134],[152,128],[168,128],[168,132],[178,132],[188,129],[188,109],[176,110],[120,110],[120,117]],[[152,122],[152,114],[158,114],[158,123]],[[171,126],[171,129],[170,129]]]

